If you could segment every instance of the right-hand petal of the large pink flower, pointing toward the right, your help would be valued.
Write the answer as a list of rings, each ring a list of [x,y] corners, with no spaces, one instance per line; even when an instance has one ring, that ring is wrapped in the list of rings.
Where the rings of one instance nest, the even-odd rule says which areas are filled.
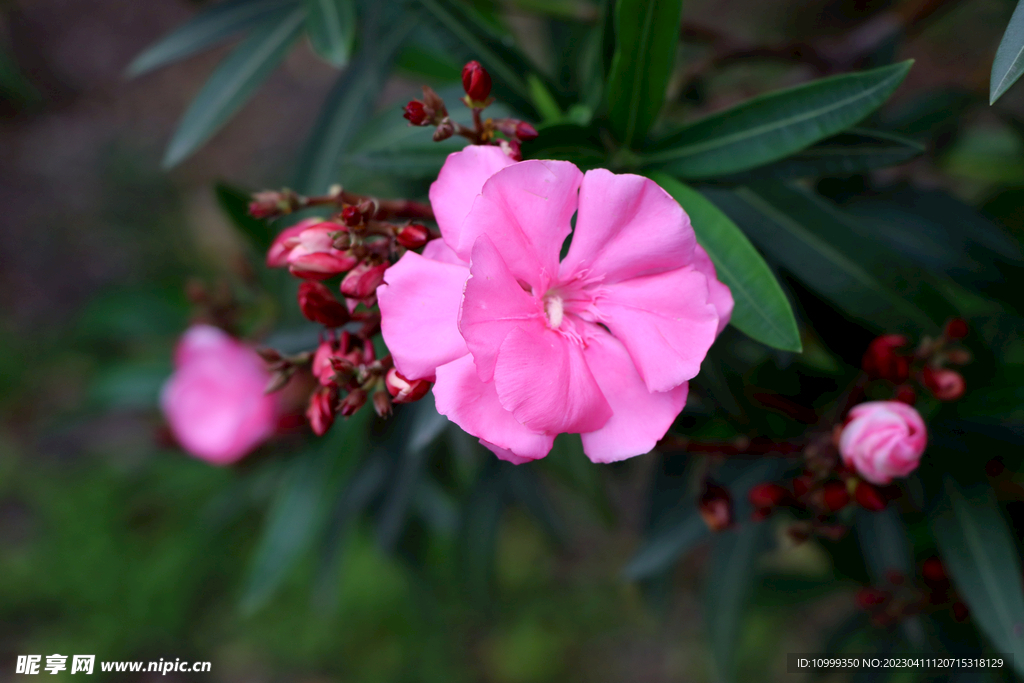
[[[610,285],[595,303],[600,322],[626,346],[649,391],[668,391],[696,377],[718,331],[708,279],[692,267]]]

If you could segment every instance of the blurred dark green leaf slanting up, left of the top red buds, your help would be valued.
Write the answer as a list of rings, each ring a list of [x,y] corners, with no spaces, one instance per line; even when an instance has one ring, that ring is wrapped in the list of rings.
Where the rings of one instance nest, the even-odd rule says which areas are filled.
[[[391,61],[410,29],[412,24],[407,20],[382,40],[365,41],[355,60],[338,77],[299,158],[295,181],[299,191],[317,195],[338,181],[345,153],[370,120]]]

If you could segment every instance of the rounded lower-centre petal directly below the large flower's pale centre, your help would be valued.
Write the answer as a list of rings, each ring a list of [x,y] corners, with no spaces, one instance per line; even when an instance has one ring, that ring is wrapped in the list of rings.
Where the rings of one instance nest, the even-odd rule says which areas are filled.
[[[514,328],[502,342],[495,388],[502,405],[534,431],[589,432],[611,418],[580,344],[541,322]]]

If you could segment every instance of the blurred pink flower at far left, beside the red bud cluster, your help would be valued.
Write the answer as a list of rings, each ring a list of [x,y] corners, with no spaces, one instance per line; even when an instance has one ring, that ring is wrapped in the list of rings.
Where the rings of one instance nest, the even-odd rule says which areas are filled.
[[[174,351],[161,405],[181,446],[215,465],[239,460],[273,433],[278,402],[257,353],[209,325],[190,327]]]

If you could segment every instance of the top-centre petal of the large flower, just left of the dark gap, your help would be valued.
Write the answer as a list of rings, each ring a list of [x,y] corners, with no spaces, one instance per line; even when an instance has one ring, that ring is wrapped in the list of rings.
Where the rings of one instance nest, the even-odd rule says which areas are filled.
[[[543,293],[558,274],[582,180],[580,169],[564,161],[525,161],[495,173],[462,224],[456,253],[469,259],[485,234],[512,273]]]

